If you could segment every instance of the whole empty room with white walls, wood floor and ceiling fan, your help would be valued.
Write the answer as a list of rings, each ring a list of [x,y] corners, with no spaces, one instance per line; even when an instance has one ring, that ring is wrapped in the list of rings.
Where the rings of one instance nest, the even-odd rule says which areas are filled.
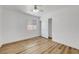
[[[79,6],[0,5],[0,54],[79,54]]]

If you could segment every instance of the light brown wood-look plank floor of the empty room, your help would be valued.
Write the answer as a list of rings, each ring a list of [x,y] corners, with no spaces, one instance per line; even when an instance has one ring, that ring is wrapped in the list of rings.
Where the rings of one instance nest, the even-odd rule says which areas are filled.
[[[0,54],[79,54],[79,50],[43,37],[3,45]]]

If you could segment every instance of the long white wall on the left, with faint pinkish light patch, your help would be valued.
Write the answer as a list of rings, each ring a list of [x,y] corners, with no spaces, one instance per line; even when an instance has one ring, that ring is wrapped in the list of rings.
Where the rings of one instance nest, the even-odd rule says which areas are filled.
[[[3,40],[2,43],[15,42],[40,35],[39,17],[25,14],[20,11],[3,8]],[[27,30],[27,25],[36,20],[36,29]]]

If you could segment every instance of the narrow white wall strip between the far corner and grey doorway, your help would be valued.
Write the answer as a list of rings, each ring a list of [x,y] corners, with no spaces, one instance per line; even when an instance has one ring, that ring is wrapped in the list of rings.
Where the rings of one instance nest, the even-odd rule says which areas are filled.
[[[48,38],[48,18],[44,15],[41,17],[41,36]]]

